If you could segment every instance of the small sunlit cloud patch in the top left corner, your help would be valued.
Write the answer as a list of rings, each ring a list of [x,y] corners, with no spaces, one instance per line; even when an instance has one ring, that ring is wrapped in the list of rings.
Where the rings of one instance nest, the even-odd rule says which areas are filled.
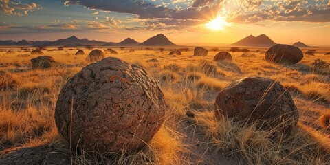
[[[0,0],[0,11],[6,15],[28,15],[28,12],[34,12],[34,10],[41,10],[41,5],[37,3],[21,3],[9,0]]]

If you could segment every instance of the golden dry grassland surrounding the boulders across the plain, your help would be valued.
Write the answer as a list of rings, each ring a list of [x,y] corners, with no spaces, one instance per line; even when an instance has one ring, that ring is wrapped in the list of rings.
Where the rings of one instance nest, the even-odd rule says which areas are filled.
[[[217,52],[229,49],[211,48],[208,50]],[[54,108],[61,87],[88,65],[87,55],[74,55],[76,48],[45,50],[58,63],[51,69],[32,70],[30,59],[36,56],[19,52],[17,47],[10,49],[16,53],[0,53],[0,151],[45,144],[69,150],[56,129]],[[157,47],[135,47],[135,52],[129,53],[130,48],[114,48],[119,54],[107,54],[144,67],[162,87],[168,104],[166,122],[153,140],[134,155],[114,159],[98,155],[94,159],[83,152],[72,156],[74,163],[202,164],[210,157],[216,157],[215,161],[225,157],[237,164],[329,164],[330,71],[314,69],[311,63],[318,58],[330,63],[330,56],[324,55],[330,50],[318,49],[315,56],[305,55],[300,63],[287,66],[265,61],[265,49],[249,48],[248,54],[230,52],[232,62],[212,61],[215,51],[208,56],[192,56],[190,47],[182,55],[169,56],[170,49],[166,47],[162,53]],[[91,50],[84,51],[88,54]],[[258,130],[255,125],[241,126],[228,118],[215,120],[217,93],[246,76],[272,78],[290,91],[300,112],[300,122],[291,135],[272,139],[272,131]],[[197,157],[193,156],[199,153],[193,149],[195,142],[208,148]]]

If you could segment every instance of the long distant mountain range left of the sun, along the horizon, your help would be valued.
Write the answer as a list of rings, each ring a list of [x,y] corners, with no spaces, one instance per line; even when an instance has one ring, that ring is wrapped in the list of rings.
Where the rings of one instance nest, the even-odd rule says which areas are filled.
[[[58,39],[56,41],[0,41],[0,45],[12,45],[12,46],[63,46],[63,47],[83,47],[83,46],[173,46],[172,43],[164,34],[157,34],[157,36],[153,36],[150,39],[147,39],[143,43],[139,43],[134,39],[127,38],[120,43],[113,42],[104,42],[104,41],[96,41],[89,39],[78,39],[76,36],[71,36],[67,39]]]

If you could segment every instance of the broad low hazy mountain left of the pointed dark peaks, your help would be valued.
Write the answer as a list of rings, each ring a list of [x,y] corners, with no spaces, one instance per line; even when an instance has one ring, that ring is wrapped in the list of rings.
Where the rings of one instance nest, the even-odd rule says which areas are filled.
[[[45,46],[100,46],[104,45],[106,42],[103,41],[95,41],[95,40],[88,40],[88,39],[78,39],[76,36],[71,36],[67,39],[58,39],[56,41],[50,41],[43,43]]]

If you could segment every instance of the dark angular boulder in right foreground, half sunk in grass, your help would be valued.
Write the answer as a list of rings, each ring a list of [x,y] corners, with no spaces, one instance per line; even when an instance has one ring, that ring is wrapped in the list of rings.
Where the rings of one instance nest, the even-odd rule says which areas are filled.
[[[243,78],[223,88],[215,102],[215,117],[257,122],[267,129],[289,131],[298,122],[298,109],[289,92],[268,78]]]

